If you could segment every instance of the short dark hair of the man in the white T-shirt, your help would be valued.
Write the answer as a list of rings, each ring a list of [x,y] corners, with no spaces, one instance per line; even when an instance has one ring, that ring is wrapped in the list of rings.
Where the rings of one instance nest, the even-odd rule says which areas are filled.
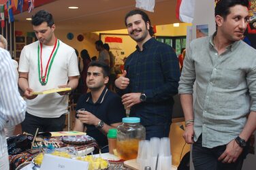
[[[42,22],[47,22],[48,27],[52,27],[52,25],[54,24],[52,14],[50,14],[46,10],[40,10],[34,16],[32,16],[31,24],[37,26],[39,24],[42,24]]]

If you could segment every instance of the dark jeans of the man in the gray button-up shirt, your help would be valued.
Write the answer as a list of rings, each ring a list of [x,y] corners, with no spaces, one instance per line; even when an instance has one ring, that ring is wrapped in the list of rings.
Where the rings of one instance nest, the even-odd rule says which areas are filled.
[[[193,144],[192,159],[195,170],[238,170],[242,169],[242,163],[246,157],[247,149],[244,148],[236,163],[222,163],[219,156],[225,151],[226,145],[215,148],[202,147],[202,135]]]

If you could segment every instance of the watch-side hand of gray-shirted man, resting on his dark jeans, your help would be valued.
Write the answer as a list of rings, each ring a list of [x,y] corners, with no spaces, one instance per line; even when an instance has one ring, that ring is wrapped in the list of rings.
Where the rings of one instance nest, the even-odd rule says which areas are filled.
[[[219,156],[218,160],[222,160],[222,163],[235,163],[241,153],[242,148],[238,146],[238,143],[233,139],[227,143],[226,150]]]

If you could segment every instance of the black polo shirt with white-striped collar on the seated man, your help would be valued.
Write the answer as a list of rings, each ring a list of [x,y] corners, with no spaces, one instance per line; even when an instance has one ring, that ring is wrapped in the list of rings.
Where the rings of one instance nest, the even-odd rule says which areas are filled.
[[[91,112],[91,114],[94,114],[108,125],[122,122],[122,118],[126,116],[121,97],[108,90],[108,88],[104,88],[96,103],[93,103],[91,92],[82,95],[78,99],[76,110],[81,108],[84,108],[87,112]],[[76,118],[78,118],[77,114]],[[84,124],[84,126],[87,127],[86,134],[93,137],[98,142],[100,148],[108,145],[106,135],[99,131],[99,129],[96,129],[94,125]]]

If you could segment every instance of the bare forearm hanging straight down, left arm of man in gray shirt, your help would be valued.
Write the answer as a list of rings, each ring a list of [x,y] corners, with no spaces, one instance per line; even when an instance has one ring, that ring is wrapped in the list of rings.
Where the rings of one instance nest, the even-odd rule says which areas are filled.
[[[193,120],[193,95],[180,94],[180,103],[183,109],[185,120]]]

